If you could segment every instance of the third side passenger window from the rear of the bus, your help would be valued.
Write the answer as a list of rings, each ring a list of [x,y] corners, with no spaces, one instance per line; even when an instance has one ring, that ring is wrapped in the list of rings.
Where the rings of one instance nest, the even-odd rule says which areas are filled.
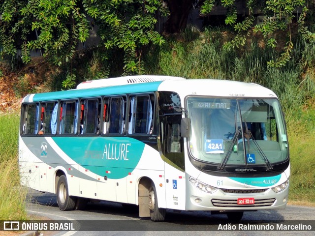
[[[77,113],[77,102],[75,101],[64,101],[62,103],[62,120],[60,123],[61,134],[74,134],[76,133],[76,113]]]

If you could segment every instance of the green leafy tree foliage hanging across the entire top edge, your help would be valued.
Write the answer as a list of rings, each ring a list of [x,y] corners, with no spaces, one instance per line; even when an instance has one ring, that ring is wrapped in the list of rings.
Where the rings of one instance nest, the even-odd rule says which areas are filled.
[[[164,42],[163,37],[155,31],[157,16],[166,16],[169,13],[164,34],[179,32],[187,24],[192,4],[197,2],[201,14],[211,12],[214,4],[221,4],[227,9],[225,24],[232,26],[237,34],[224,45],[226,49],[245,45],[246,36],[252,29],[254,32],[260,32],[266,45],[271,48],[277,45],[277,30],[287,32],[288,41],[282,55],[277,60],[269,61],[269,66],[282,66],[290,59],[293,48],[291,23],[297,7],[303,7],[297,19],[299,33],[305,40],[315,41],[315,33],[310,32],[305,25],[310,0],[246,0],[248,11],[242,22],[237,22],[237,1],[2,0],[2,57],[16,58],[18,49],[21,49],[21,59],[28,63],[31,60],[30,50],[39,49],[44,57],[57,65],[71,63],[77,44],[85,42],[89,37],[89,17],[99,26],[99,47],[102,49],[107,71],[113,57],[120,54],[125,74],[142,73],[142,48],[150,43],[161,45]],[[264,12],[266,20],[253,25],[253,12],[257,9]],[[31,33],[36,34],[36,37],[30,38]]]

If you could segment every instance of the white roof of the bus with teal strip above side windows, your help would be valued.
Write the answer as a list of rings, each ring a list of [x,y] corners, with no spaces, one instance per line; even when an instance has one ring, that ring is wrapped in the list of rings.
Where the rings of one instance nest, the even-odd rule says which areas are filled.
[[[180,77],[169,76],[127,76],[81,83],[77,89],[67,91],[30,94],[22,102],[53,101],[149,91],[174,91],[182,98],[187,95],[277,97],[270,89],[257,84],[238,81],[216,79],[186,80]]]

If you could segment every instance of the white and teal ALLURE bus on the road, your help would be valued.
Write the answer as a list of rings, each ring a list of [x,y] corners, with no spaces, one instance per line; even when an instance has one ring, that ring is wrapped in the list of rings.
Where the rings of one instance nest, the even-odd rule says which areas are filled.
[[[284,114],[253,83],[170,76],[86,81],[29,94],[21,104],[21,184],[57,195],[61,210],[89,201],[166,210],[284,209],[290,163]]]

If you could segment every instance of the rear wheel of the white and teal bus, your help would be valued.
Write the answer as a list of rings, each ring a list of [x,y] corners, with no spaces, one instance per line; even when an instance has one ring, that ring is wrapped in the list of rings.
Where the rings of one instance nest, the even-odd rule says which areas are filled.
[[[75,207],[75,197],[69,196],[67,178],[63,175],[57,184],[57,203],[61,210],[73,210]]]

